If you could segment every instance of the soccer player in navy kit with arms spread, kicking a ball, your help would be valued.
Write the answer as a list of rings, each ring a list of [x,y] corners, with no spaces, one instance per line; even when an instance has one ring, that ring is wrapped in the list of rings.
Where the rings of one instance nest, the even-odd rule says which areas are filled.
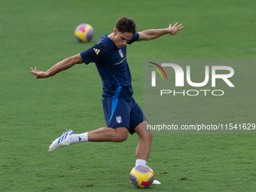
[[[50,145],[49,151],[79,142],[124,142],[129,133],[137,133],[139,142],[136,148],[136,166],[146,164],[151,149],[152,133],[151,130],[143,129],[147,127],[148,120],[133,99],[132,78],[126,62],[126,44],[148,41],[166,34],[175,35],[182,28],[182,24],[175,23],[174,26],[170,24],[165,29],[136,32],[134,21],[122,17],[117,20],[113,32],[103,35],[93,47],[56,63],[47,72],[41,72],[36,67],[31,68],[35,78],[49,78],[75,64],[95,62],[102,78],[102,105],[106,127],[82,134],[66,130]]]

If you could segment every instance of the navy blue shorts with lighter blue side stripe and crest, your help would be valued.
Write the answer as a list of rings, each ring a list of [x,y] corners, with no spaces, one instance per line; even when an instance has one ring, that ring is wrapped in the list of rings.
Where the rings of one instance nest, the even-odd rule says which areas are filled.
[[[108,127],[118,128],[126,126],[133,135],[134,129],[147,120],[142,109],[131,97],[130,99],[102,96],[105,123]]]

